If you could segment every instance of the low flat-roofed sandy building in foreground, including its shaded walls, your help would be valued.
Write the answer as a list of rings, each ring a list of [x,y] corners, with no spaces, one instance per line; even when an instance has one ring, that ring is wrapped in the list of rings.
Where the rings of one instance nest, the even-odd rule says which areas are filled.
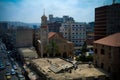
[[[40,58],[31,67],[42,80],[108,80],[107,74],[89,64],[75,64],[60,58]]]

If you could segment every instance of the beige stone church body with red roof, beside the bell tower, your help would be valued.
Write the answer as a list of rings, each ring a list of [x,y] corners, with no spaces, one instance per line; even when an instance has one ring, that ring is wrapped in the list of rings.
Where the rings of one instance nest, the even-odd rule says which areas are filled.
[[[74,45],[67,41],[61,34],[50,32],[48,34],[49,44],[43,49],[43,57],[73,58]],[[39,41],[38,41],[39,42]],[[39,55],[41,55],[41,44],[39,43]]]

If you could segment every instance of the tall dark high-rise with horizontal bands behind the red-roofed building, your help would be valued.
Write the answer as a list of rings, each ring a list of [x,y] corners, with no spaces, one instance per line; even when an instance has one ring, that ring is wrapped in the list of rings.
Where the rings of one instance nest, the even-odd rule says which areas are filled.
[[[94,31],[95,40],[120,32],[120,3],[95,9]]]

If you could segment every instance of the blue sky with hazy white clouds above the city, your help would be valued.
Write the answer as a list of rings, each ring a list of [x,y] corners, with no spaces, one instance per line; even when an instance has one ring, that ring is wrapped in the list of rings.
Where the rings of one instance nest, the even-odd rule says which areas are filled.
[[[40,23],[45,9],[47,17],[68,15],[76,22],[91,22],[96,7],[110,4],[112,0],[0,0],[0,21]]]

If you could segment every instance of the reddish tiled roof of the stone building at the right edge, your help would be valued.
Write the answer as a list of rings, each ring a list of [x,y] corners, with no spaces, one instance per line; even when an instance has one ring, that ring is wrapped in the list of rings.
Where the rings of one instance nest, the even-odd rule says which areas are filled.
[[[94,41],[94,43],[107,45],[107,46],[120,47],[120,33],[115,33],[105,38],[96,40]]]

